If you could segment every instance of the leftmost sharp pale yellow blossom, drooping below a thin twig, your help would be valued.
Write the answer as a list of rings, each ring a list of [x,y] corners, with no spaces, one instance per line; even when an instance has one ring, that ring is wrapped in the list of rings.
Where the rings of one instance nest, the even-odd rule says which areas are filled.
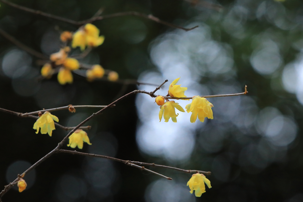
[[[52,136],[52,132],[55,130],[54,121],[58,122],[58,117],[52,115],[48,111],[45,111],[44,114],[42,114],[34,124],[33,128],[37,130],[36,134],[38,134],[39,129],[41,128],[41,134],[48,133],[49,136]]]

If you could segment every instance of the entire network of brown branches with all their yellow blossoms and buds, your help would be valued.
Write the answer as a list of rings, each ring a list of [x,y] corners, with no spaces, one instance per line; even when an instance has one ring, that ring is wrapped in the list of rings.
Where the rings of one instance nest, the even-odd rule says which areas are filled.
[[[138,12],[123,12],[123,13],[115,13],[111,15],[105,15],[105,16],[93,16],[90,19],[83,20],[83,21],[73,21],[67,18],[63,18],[60,16],[55,16],[52,14],[48,14],[45,12],[33,10],[31,8],[26,8],[24,6],[20,6],[17,4],[14,4],[12,2],[9,2],[7,0],[0,0],[0,2],[5,3],[7,5],[10,5],[14,8],[30,12],[36,15],[42,15],[47,18],[53,18],[56,20],[60,20],[62,22],[70,23],[73,25],[79,25],[77,31],[74,33],[71,31],[63,31],[60,35],[61,41],[64,43],[63,47],[60,48],[60,50],[56,53],[51,54],[49,57],[46,57],[42,53],[39,53],[32,48],[27,47],[26,45],[22,44],[18,40],[16,40],[14,37],[10,36],[8,33],[0,29],[0,34],[7,38],[8,40],[12,41],[15,45],[18,47],[24,49],[28,53],[34,55],[37,58],[43,59],[43,64],[41,68],[41,76],[43,79],[50,79],[54,74],[57,74],[57,80],[58,83],[61,85],[66,84],[72,84],[73,83],[73,74],[72,72],[76,72],[78,70],[84,70],[85,74],[82,74],[87,81],[92,82],[97,79],[104,79],[104,76],[107,76],[108,81],[112,82],[119,82],[119,75],[117,72],[112,70],[104,69],[101,65],[95,64],[95,65],[88,65],[88,64],[82,64],[77,60],[77,58],[85,57],[92,48],[98,47],[103,44],[105,37],[103,35],[100,35],[99,29],[91,24],[92,22],[96,20],[103,20],[106,18],[113,18],[113,17],[119,17],[119,16],[125,16],[125,15],[135,15],[143,18],[150,19],[152,21],[174,27],[179,28],[185,31],[190,31],[195,27],[192,28],[183,28],[178,25],[174,25],[168,22],[164,22],[153,15],[145,15]],[[72,48],[80,48],[82,51],[82,54],[80,55],[69,55]],[[79,72],[77,74],[80,74]],[[115,107],[120,101],[122,101],[125,98],[128,98],[132,95],[143,93],[148,94],[151,98],[155,98],[155,103],[160,106],[159,111],[159,120],[162,120],[162,117],[164,118],[165,122],[168,122],[171,118],[172,122],[177,122],[177,117],[179,114],[176,114],[175,109],[181,112],[185,112],[185,110],[175,101],[172,101],[170,99],[177,99],[177,100],[192,100],[190,104],[187,104],[185,109],[189,113],[191,112],[190,116],[190,122],[194,123],[197,118],[199,121],[204,122],[205,118],[213,119],[213,112],[212,107],[214,107],[213,104],[211,104],[206,98],[215,98],[215,97],[226,97],[226,96],[238,96],[238,95],[244,95],[247,94],[247,89],[245,86],[245,91],[242,93],[236,93],[236,94],[222,94],[222,95],[207,95],[207,96],[199,96],[195,95],[192,97],[185,96],[185,91],[187,90],[186,87],[181,87],[181,85],[177,85],[180,78],[176,78],[174,81],[171,82],[168,88],[168,94],[167,95],[156,95],[155,93],[165,84],[168,82],[168,80],[165,80],[161,85],[159,85],[157,88],[155,88],[152,92],[142,91],[142,90],[134,90],[132,92],[129,92],[112,103],[106,105],[106,106],[100,106],[100,105],[68,105],[64,107],[58,107],[58,108],[52,108],[52,109],[43,109],[40,111],[33,111],[28,113],[20,113],[15,111],[10,111],[8,109],[0,108],[1,112],[13,114],[20,118],[34,118],[36,119],[35,123],[33,124],[33,129],[36,130],[36,134],[39,132],[41,134],[48,134],[50,137],[52,137],[52,132],[56,129],[55,127],[60,127],[64,130],[70,130],[68,134],[58,143],[58,145],[50,151],[48,154],[43,156],[40,160],[38,160],[35,164],[33,164],[31,167],[29,167],[26,171],[24,171],[22,174],[18,174],[16,179],[12,182],[10,182],[8,185],[4,187],[4,189],[0,192],[0,201],[1,198],[5,193],[8,192],[14,185],[17,185],[19,187],[19,192],[22,192],[26,190],[26,181],[23,179],[30,171],[32,171],[35,167],[40,165],[43,161],[47,160],[49,157],[51,157],[53,154],[60,154],[60,153],[68,153],[68,154],[77,154],[77,155],[84,155],[88,157],[98,157],[98,158],[105,158],[112,161],[118,161],[121,163],[124,163],[125,165],[136,167],[140,170],[148,171],[152,174],[156,174],[157,176],[164,177],[168,180],[172,180],[171,177],[167,177],[163,174],[160,174],[158,172],[152,171],[150,169],[145,168],[145,166],[150,167],[161,167],[165,169],[174,169],[176,171],[181,171],[185,173],[195,173],[192,175],[192,177],[189,179],[187,186],[190,188],[190,193],[193,193],[195,190],[195,196],[201,197],[201,194],[205,192],[205,184],[207,184],[208,188],[211,188],[210,181],[205,177],[205,175],[210,175],[211,172],[209,171],[198,171],[198,170],[184,170],[177,167],[169,167],[165,165],[158,165],[154,163],[144,163],[144,162],[138,162],[138,161],[128,161],[128,160],[122,160],[114,157],[104,156],[104,155],[98,155],[98,154],[88,154],[78,151],[70,151],[70,150],[63,150],[61,147],[63,145],[67,145],[71,148],[82,149],[83,144],[87,143],[88,145],[94,144],[89,139],[89,134],[82,129],[90,129],[91,126],[83,126],[85,123],[87,123],[92,118],[95,118],[98,115],[103,114],[104,111],[107,109]],[[148,83],[140,83],[138,81],[131,82],[131,81],[124,81],[124,84],[148,84]],[[150,84],[148,84],[150,85]],[[102,108],[101,110],[93,113],[89,117],[87,117],[85,120],[83,120],[80,124],[78,124],[75,127],[65,127],[62,125],[59,125],[59,118],[56,115],[52,114],[53,111],[58,110],[66,110],[68,109],[69,112],[76,112],[76,108]],[[38,116],[35,116],[34,114],[38,114]],[[180,114],[181,115],[181,114]],[[155,117],[156,118],[156,117]],[[67,144],[68,141],[68,144]]]

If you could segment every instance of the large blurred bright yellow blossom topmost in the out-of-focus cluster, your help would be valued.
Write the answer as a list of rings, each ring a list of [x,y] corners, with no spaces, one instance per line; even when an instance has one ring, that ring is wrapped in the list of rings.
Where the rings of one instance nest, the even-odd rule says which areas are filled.
[[[104,42],[104,36],[99,36],[99,29],[90,23],[79,28],[73,35],[72,47],[80,47],[84,51],[85,46],[97,47]]]

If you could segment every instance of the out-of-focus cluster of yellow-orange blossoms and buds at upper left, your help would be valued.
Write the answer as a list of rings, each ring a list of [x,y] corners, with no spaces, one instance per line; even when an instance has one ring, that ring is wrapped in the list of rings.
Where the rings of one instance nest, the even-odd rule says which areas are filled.
[[[99,36],[99,33],[99,29],[90,23],[80,27],[74,34],[70,31],[63,31],[60,39],[66,46],[50,55],[50,62],[43,65],[41,75],[49,79],[54,73],[58,72],[57,79],[60,84],[72,84],[72,71],[79,69],[81,65],[77,59],[68,57],[71,49],[67,45],[71,43],[72,48],[80,47],[82,51],[84,51],[86,46],[97,47],[104,41],[104,36]],[[86,78],[88,81],[94,81],[95,79],[102,78],[105,74],[109,81],[117,81],[119,78],[117,72],[106,72],[101,65],[92,65],[92,67],[86,71]]]

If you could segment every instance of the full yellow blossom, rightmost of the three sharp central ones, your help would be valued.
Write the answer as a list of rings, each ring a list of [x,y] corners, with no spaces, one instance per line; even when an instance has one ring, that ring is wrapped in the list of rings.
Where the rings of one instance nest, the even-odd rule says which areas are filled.
[[[197,116],[201,122],[204,122],[204,118],[213,119],[213,114],[211,108],[212,105],[206,98],[201,98],[200,96],[192,97],[191,104],[185,106],[187,113],[192,112],[190,117],[190,122],[194,123]]]

